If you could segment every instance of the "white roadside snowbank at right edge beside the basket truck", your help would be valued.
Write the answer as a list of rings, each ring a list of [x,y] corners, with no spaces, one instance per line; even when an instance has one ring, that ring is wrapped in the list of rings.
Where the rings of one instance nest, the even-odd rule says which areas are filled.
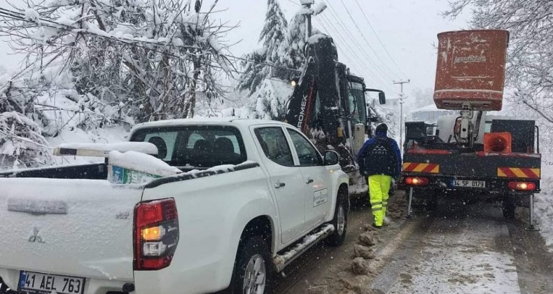
[[[535,195],[535,218],[549,250],[553,251],[553,162],[542,162],[541,189]]]

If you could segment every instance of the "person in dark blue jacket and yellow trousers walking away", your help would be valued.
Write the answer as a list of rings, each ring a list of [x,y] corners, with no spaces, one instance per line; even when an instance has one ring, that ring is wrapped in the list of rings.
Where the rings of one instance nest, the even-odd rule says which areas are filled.
[[[377,127],[376,136],[365,141],[357,154],[359,172],[368,176],[369,198],[374,228],[381,228],[388,207],[392,178],[397,181],[401,172],[401,153],[398,143],[388,138],[388,126]]]

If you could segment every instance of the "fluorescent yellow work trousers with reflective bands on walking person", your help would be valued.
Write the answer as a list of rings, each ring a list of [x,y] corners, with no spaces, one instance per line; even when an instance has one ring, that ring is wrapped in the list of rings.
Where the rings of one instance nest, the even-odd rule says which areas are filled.
[[[369,176],[369,199],[372,209],[372,217],[374,225],[381,227],[386,216],[386,208],[388,207],[388,193],[392,183],[391,176],[384,174],[375,174]]]

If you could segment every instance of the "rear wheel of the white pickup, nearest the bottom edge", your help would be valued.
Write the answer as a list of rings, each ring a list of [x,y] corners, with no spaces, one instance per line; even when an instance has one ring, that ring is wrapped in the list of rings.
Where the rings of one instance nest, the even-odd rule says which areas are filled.
[[[232,273],[235,294],[270,293],[272,260],[262,237],[251,237],[238,248],[235,270]]]

